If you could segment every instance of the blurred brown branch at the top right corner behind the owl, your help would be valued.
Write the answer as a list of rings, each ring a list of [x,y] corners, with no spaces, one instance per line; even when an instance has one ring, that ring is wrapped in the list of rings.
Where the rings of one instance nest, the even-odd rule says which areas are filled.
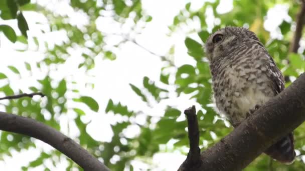
[[[305,23],[305,0],[301,0],[299,12],[296,15],[296,27],[293,38],[290,43],[289,52],[296,53],[299,47],[299,40],[302,36],[302,30]]]

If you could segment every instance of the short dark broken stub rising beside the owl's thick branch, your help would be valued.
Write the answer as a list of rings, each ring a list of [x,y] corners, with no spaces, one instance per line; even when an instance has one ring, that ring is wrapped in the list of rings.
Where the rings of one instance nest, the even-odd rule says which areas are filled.
[[[200,159],[199,126],[195,105],[184,110],[184,114],[188,119],[190,150],[187,159],[183,162],[178,170],[193,170],[199,168],[202,163]]]

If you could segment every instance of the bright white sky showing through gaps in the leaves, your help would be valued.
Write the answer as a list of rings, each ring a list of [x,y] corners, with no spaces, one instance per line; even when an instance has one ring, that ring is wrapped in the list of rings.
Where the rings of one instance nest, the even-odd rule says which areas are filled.
[[[34,1],[34,0],[32,0]],[[87,22],[86,17],[78,12],[73,11],[72,8],[67,4],[67,0],[37,0],[40,4],[48,4],[48,8],[55,10],[60,14],[68,14],[70,16],[70,22],[78,26],[82,26]],[[199,22],[192,22],[189,25],[183,27],[181,30],[177,30],[172,36],[167,36],[168,25],[172,23],[173,17],[184,8],[185,4],[190,0],[142,0],[143,9],[147,14],[153,16],[153,20],[146,25],[146,28],[140,36],[136,37],[136,40],[142,46],[148,48],[149,50],[157,54],[166,54],[172,45],[175,45],[175,58],[174,62],[176,65],[180,66],[186,63],[195,64],[192,57],[187,55],[187,48],[184,45],[184,39],[186,36],[186,30],[190,28],[200,29]],[[196,9],[201,7],[204,0],[191,0],[191,9]],[[53,5],[52,5],[53,4]],[[232,0],[221,0],[221,4],[217,8],[219,12],[227,12],[232,9]],[[278,12],[281,11],[281,12]],[[276,5],[272,10],[270,10],[266,17],[265,28],[269,31],[276,29],[277,25],[281,23],[282,19],[290,21],[291,18],[287,16],[286,5]],[[213,15],[207,11],[208,17],[207,22],[209,25],[213,25],[215,21]],[[30,31],[28,32],[29,37],[37,36],[41,44],[44,41],[49,42],[52,46],[54,43],[61,44],[63,41],[67,41],[67,35],[64,31],[58,31],[55,33],[40,33],[40,29],[43,28],[46,32],[49,31],[46,18],[35,12],[25,12],[25,17],[29,23]],[[36,22],[39,21],[44,23],[43,25],[38,25]],[[12,25],[18,32],[17,22],[15,21],[3,21],[0,23],[7,23]],[[97,27],[103,32],[121,32],[120,28],[115,24],[111,18],[100,17],[97,20]],[[20,34],[20,32],[18,32]],[[277,36],[278,34],[275,34]],[[191,35],[194,39],[199,39],[196,34]],[[3,34],[0,34],[1,47],[0,54],[2,54],[2,62],[0,62],[0,72],[4,72],[11,79],[11,86],[22,88],[25,92],[29,90],[27,87],[38,85],[36,79],[43,78],[47,72],[46,67],[42,67],[42,71],[35,67],[35,62],[43,58],[44,56],[44,45],[41,45],[37,50],[37,47],[33,40],[29,40],[29,49],[26,52],[19,52],[15,49],[23,48],[20,43],[11,43],[8,41]],[[109,43],[111,43],[112,38],[109,37]],[[190,100],[190,95],[182,95],[176,97],[174,92],[174,87],[169,87],[172,91],[170,92],[170,98],[168,100],[163,100],[161,103],[154,103],[153,108],[146,106],[144,102],[140,100],[130,88],[129,83],[132,83],[138,87],[142,87],[143,76],[148,76],[150,79],[159,80],[161,67],[164,63],[161,61],[159,56],[150,54],[143,48],[127,42],[123,44],[120,49],[116,52],[117,58],[113,61],[103,60],[102,57],[95,58],[95,68],[91,69],[88,74],[85,74],[84,69],[77,68],[78,63],[82,61],[81,57],[82,49],[70,49],[68,50],[71,57],[67,59],[65,64],[59,65],[57,68],[54,66],[50,75],[56,79],[61,80],[66,78],[68,80],[75,80],[79,82],[77,88],[80,90],[81,95],[92,96],[99,103],[99,112],[92,112],[87,106],[82,105],[86,111],[86,116],[83,121],[90,121],[87,131],[93,136],[94,139],[100,141],[110,141],[112,136],[112,130],[110,128],[110,123],[115,123],[116,118],[113,113],[104,113],[105,107],[109,98],[114,102],[121,102],[127,105],[131,110],[142,110],[147,115],[162,116],[166,105],[176,106],[178,109],[184,110],[185,108],[196,104],[197,108],[200,108],[194,100]],[[24,67],[24,61],[32,64],[33,72],[32,74],[27,71]],[[7,69],[8,65],[16,66],[22,73],[21,78],[16,74],[12,73]],[[68,69],[67,69],[68,68]],[[168,70],[168,72],[174,72],[174,70]],[[90,76],[91,75],[91,76]],[[94,76],[93,76],[94,75]],[[173,82],[173,78],[170,78]],[[85,86],[81,82],[92,82],[95,84],[93,89]],[[1,82],[3,84],[5,82]],[[56,82],[54,82],[56,85]],[[166,86],[162,83],[157,85]],[[68,85],[72,86],[72,85]],[[66,94],[67,97],[71,98],[71,93]],[[4,96],[4,94],[0,94]],[[73,96],[72,96],[73,97]],[[39,97],[35,97],[39,98]],[[68,107],[73,107],[76,104],[73,102],[68,102]],[[1,108],[4,110],[4,107]],[[45,114],[48,117],[48,113]],[[68,111],[68,114],[60,116],[61,131],[65,134],[75,137],[79,134],[76,126],[70,120],[75,117],[73,111]],[[136,118],[137,122],[141,122],[145,116]],[[184,116],[183,116],[184,117]],[[184,119],[184,118],[182,118]],[[68,131],[67,125],[70,126],[70,131]],[[73,128],[74,127],[74,128]],[[100,130],[103,130],[101,133]],[[139,133],[138,126],[132,126],[128,128],[125,132],[126,135],[133,137]],[[39,156],[41,148],[45,150],[50,150],[49,145],[36,140],[38,149],[23,150],[20,152],[13,152],[13,157],[5,156],[3,161],[0,161],[0,168],[3,170],[19,170],[22,165],[26,165],[30,160],[35,159]],[[167,144],[168,149],[172,149],[172,141]],[[186,149],[187,150],[187,149]],[[168,158],[172,158],[169,160]],[[158,165],[158,170],[177,170],[179,165],[183,162],[186,156],[182,155],[179,151],[174,152],[160,152],[155,154],[154,163]],[[167,159],[166,159],[167,158]],[[60,165],[56,168],[52,166],[50,160],[46,160],[44,163],[50,166],[51,170],[63,170],[63,167],[67,166],[67,161],[64,157],[59,159]],[[134,169],[139,170],[146,169],[147,165],[140,161],[132,162]],[[31,170],[41,170],[42,168],[35,168]]]

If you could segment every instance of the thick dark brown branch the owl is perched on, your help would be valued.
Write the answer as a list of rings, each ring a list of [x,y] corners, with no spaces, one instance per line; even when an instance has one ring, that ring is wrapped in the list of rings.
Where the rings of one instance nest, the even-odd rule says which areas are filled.
[[[202,151],[201,166],[192,170],[241,170],[304,120],[305,73],[241,122],[229,135]]]

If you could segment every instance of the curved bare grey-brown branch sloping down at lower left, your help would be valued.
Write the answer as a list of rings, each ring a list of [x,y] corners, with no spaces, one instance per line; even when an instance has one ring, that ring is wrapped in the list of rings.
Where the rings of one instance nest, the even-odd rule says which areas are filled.
[[[84,170],[109,170],[74,140],[34,119],[0,112],[0,129],[40,139],[70,157]]]

